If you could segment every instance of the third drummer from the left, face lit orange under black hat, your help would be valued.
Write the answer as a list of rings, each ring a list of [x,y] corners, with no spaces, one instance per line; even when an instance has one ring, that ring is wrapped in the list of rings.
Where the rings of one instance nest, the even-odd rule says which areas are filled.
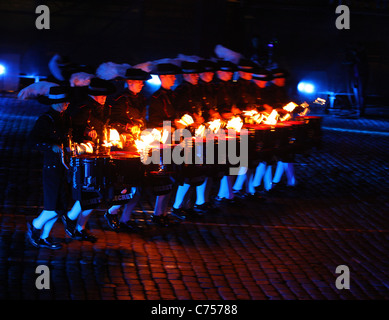
[[[129,68],[126,70],[125,80],[127,89],[119,95],[112,104],[110,125],[120,133],[131,133],[133,127],[143,128],[146,123],[146,98],[142,94],[145,81],[151,75],[141,69]],[[114,231],[134,231],[130,219],[131,213],[140,199],[140,187],[134,186],[131,190],[133,197],[125,205],[114,205],[104,214],[109,227]],[[118,213],[122,211],[120,220]]]

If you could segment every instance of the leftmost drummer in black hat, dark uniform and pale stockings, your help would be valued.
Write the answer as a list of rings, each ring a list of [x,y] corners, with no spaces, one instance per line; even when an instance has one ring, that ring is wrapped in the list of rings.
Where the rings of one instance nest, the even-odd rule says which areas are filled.
[[[36,121],[29,139],[33,148],[42,151],[43,158],[43,211],[29,222],[27,239],[37,248],[60,249],[62,245],[50,237],[51,229],[58,216],[67,210],[66,169],[61,154],[66,143],[69,124],[64,111],[69,105],[68,90],[65,87],[50,88],[48,96],[38,100],[50,109]]]

